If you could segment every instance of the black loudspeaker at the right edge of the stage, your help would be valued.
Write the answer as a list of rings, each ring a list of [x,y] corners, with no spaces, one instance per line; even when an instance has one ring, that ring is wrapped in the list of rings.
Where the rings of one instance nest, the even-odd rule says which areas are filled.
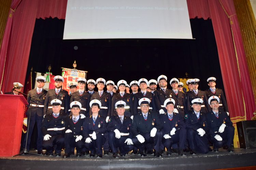
[[[240,148],[256,148],[256,120],[237,122]]]

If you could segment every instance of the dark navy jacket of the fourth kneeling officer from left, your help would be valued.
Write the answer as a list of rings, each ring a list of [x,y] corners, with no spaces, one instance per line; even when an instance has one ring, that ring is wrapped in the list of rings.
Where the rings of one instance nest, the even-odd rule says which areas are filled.
[[[131,133],[131,125],[132,125],[132,119],[128,116],[124,116],[123,124],[121,123],[121,120],[118,115],[111,116],[108,121],[107,125],[107,131],[113,132],[114,130],[118,129],[120,133],[129,133],[128,138],[132,138]]]

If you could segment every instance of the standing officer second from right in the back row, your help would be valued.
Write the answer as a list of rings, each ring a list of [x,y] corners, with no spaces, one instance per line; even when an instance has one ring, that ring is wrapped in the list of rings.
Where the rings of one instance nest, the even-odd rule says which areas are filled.
[[[207,113],[211,110],[211,107],[208,104],[208,98],[204,91],[198,90],[199,79],[191,79],[192,91],[187,92],[187,111],[191,110],[191,102],[196,98],[201,98],[203,103],[201,104],[201,112]]]

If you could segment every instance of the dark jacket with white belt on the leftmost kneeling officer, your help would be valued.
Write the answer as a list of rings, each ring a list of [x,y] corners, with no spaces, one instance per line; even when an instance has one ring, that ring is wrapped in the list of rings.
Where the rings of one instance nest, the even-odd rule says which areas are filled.
[[[41,126],[41,130],[43,135],[58,135],[58,134],[64,134],[66,129],[61,130],[61,131],[47,131],[47,129],[49,128],[63,128],[65,127],[65,120],[66,120],[67,114],[63,114],[60,113],[59,116],[57,118],[53,117],[53,113],[47,114],[45,115],[43,122],[42,122],[42,126]]]

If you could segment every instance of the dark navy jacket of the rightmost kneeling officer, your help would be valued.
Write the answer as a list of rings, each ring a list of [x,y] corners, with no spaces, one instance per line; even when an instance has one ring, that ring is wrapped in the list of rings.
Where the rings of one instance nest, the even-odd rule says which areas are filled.
[[[226,112],[218,112],[218,118],[215,116],[213,111],[207,113],[207,121],[209,122],[209,134],[214,137],[215,132],[219,131],[219,126],[224,123],[226,127],[233,126],[228,114]],[[224,129],[225,130],[225,129]]]

